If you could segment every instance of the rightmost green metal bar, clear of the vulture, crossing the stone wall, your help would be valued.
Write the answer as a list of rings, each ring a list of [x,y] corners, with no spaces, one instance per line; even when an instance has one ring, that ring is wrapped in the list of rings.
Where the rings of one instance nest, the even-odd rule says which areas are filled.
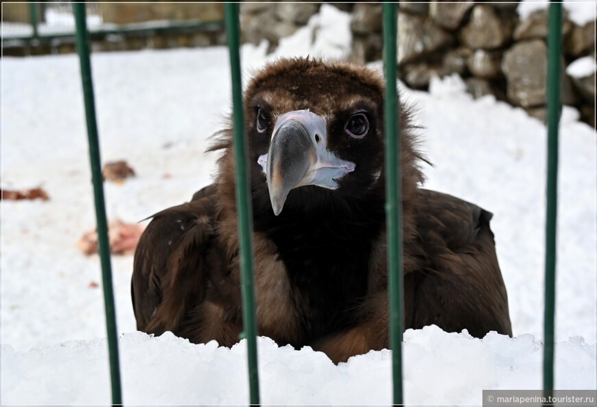
[[[543,393],[554,389],[554,314],[556,297],[556,220],[558,127],[561,111],[562,4],[552,1],[548,30],[548,156],[545,253],[545,314],[543,327]]]

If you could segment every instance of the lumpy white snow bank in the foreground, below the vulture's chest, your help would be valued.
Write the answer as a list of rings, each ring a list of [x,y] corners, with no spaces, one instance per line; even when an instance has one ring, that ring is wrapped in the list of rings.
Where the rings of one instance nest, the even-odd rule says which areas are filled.
[[[246,404],[246,342],[231,349],[194,345],[167,332],[119,338],[126,404]],[[325,354],[259,338],[263,404],[390,404],[391,352],[371,351],[334,365]],[[540,388],[542,345],[491,332],[480,340],[436,326],[409,329],[403,345],[408,404],[481,404],[483,389]],[[559,388],[594,388],[594,346],[558,344]],[[5,404],[109,404],[106,340],[71,341],[17,352],[3,349]],[[445,380],[449,377],[449,380]]]

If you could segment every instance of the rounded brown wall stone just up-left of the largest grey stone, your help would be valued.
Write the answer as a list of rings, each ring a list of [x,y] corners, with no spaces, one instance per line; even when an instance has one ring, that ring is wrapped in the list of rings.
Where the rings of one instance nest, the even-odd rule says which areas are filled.
[[[508,44],[512,38],[511,20],[502,21],[491,5],[475,5],[471,19],[462,30],[460,40],[473,49],[495,49]]]

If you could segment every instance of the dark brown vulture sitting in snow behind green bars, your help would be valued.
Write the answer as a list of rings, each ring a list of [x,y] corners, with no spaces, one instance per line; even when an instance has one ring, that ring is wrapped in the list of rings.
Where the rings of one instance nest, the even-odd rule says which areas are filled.
[[[244,92],[257,330],[335,362],[388,347],[384,115],[399,115],[405,329],[512,335],[492,214],[421,187],[417,126],[377,71],[281,59]],[[243,331],[231,125],[213,184],[152,216],[134,255],[137,329],[231,347]]]

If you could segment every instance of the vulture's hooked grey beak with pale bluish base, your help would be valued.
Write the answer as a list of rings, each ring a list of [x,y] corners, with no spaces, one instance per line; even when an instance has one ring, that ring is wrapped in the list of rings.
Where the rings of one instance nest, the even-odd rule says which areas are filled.
[[[309,111],[281,115],[274,126],[268,154],[259,156],[266,173],[270,201],[278,216],[291,189],[303,185],[338,188],[338,179],[355,170],[355,163],[327,150],[322,117]]]

